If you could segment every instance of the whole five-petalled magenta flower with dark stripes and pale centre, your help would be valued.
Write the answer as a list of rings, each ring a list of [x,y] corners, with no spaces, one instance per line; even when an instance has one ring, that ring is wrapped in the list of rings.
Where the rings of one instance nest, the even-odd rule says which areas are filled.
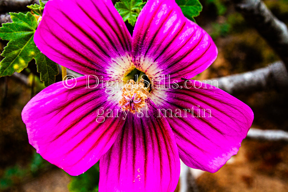
[[[110,0],[48,1],[34,41],[58,64],[103,80],[101,88],[91,78],[92,89],[87,76],[71,89],[54,83],[22,111],[29,142],[44,159],[71,175],[100,160],[99,191],[174,191],[179,157],[189,167],[216,172],[237,153],[253,121],[238,99],[181,79],[204,71],[217,48],[174,0],[149,0],[132,37]],[[170,75],[171,84],[117,87],[131,71],[150,81]],[[113,93],[105,84],[110,78]]]

